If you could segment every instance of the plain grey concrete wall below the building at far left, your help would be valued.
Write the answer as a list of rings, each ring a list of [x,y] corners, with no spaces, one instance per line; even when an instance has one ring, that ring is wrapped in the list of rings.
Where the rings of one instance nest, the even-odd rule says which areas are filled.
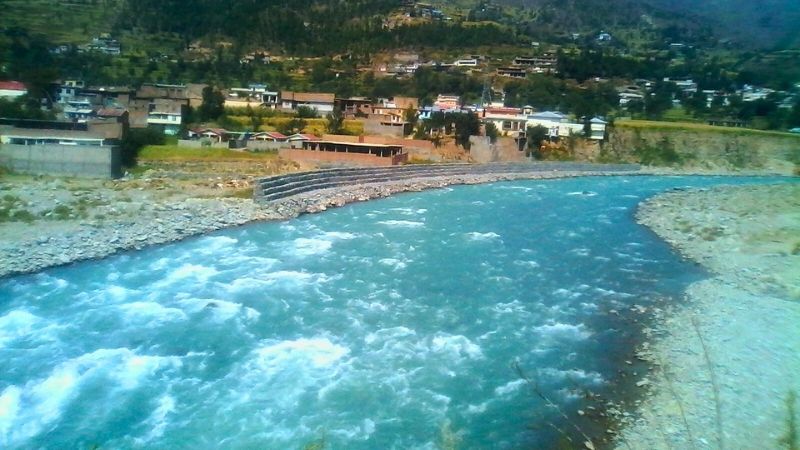
[[[0,165],[14,172],[116,178],[122,174],[119,147],[0,145]]]

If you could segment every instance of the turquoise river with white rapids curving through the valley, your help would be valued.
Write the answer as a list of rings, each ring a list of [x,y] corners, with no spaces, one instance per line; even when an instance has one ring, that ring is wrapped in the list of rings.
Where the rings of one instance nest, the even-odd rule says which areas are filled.
[[[0,280],[0,448],[553,447],[536,391],[592,429],[632,306],[704,276],[636,205],[766,180],[459,186]]]

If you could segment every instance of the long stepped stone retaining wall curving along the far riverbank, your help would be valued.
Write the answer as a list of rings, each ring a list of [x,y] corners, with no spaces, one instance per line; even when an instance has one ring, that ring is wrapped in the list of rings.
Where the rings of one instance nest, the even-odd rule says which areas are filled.
[[[640,166],[636,164],[537,162],[522,164],[425,164],[325,169],[259,179],[254,187],[254,197],[261,202],[271,202],[337,186],[384,183],[412,178],[534,172],[634,172],[639,168]]]

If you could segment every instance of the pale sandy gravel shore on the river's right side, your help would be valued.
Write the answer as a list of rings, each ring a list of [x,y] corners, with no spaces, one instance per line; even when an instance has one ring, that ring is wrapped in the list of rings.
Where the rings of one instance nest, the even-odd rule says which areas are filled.
[[[618,448],[782,448],[800,392],[800,184],[670,192],[637,218],[712,276],[640,349],[649,392]]]

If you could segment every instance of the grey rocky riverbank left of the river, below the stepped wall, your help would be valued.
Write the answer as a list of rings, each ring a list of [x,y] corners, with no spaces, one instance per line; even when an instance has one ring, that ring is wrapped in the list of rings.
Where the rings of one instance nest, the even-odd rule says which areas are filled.
[[[420,178],[314,191],[269,204],[238,198],[251,192],[241,186],[223,193],[197,192],[196,186],[191,191],[175,189],[174,183],[162,179],[6,181],[0,183],[0,201],[4,202],[0,206],[15,218],[0,222],[0,276],[102,258],[253,221],[289,219],[398,192],[580,175],[586,174],[539,172]],[[200,196],[192,196],[197,194]]]

